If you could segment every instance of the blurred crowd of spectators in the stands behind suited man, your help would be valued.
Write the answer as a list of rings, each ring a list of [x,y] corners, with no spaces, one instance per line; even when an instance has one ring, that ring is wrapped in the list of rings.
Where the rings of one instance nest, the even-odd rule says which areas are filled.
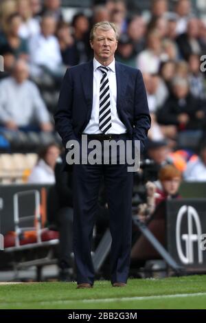
[[[34,152],[40,144],[60,144],[52,115],[62,76],[93,57],[93,23],[112,21],[119,30],[115,58],[144,76],[152,116],[144,157],[163,159],[155,160],[159,165],[169,160],[188,180],[194,177],[187,164],[201,163],[195,179],[205,180],[205,161],[198,154],[206,124],[206,74],[201,71],[206,23],[194,14],[190,0],[151,0],[148,14],[131,12],[127,5],[93,1],[90,15],[83,8],[72,11],[68,22],[60,0],[1,1],[1,150],[4,145],[11,152]]]

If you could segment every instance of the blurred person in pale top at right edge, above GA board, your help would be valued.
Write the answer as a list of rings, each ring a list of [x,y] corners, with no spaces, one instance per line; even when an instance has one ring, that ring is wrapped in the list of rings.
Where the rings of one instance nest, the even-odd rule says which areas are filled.
[[[201,144],[200,155],[195,161],[189,161],[184,172],[185,181],[206,181],[206,142]]]

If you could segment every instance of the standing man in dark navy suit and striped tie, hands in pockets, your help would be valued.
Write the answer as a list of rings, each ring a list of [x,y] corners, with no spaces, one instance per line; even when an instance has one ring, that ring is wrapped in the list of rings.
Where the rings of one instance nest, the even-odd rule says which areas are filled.
[[[67,69],[60,90],[56,130],[67,142],[82,133],[87,140],[140,141],[141,150],[150,128],[146,90],[141,72],[115,62],[117,29],[103,21],[93,26],[91,62]],[[103,150],[103,149],[102,149]],[[103,151],[104,154],[104,151]],[[104,177],[110,214],[111,283],[126,286],[130,265],[133,172],[127,163],[73,164],[73,252],[78,288],[93,287],[91,236],[100,181]]]

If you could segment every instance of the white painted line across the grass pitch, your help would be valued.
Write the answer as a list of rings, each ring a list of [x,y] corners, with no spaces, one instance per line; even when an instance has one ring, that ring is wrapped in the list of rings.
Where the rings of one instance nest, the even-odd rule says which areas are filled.
[[[184,293],[184,294],[170,294],[170,295],[155,295],[155,296],[133,296],[133,297],[124,297],[124,298],[91,298],[89,300],[45,300],[43,302],[32,302],[32,304],[38,303],[41,305],[45,304],[67,304],[73,302],[83,302],[83,303],[99,303],[99,302],[125,302],[131,300],[161,300],[163,298],[187,298],[187,297],[195,297],[195,296],[206,296],[206,292],[204,293]],[[14,302],[10,303],[12,305],[21,305],[25,302]],[[3,304],[9,304],[8,302],[1,302],[1,306]]]

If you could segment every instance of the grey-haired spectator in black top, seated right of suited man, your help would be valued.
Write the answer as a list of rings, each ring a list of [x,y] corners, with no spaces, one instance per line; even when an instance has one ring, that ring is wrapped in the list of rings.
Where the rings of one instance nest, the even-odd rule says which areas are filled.
[[[172,94],[157,112],[160,124],[173,124],[179,131],[199,130],[205,124],[203,102],[190,94],[184,78],[172,81]]]

